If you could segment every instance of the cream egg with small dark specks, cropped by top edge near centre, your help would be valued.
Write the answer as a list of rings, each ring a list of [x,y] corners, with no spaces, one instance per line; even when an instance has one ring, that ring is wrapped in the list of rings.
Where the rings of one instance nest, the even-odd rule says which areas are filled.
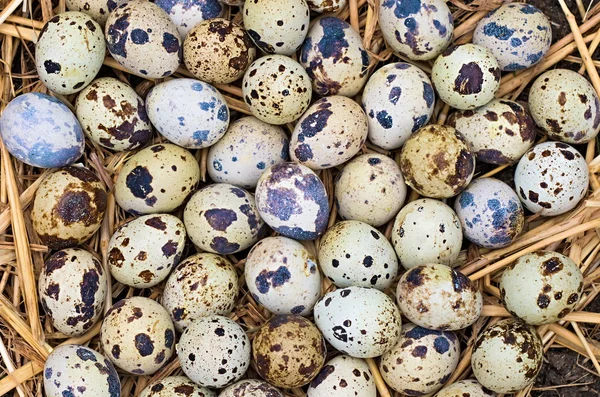
[[[267,54],[292,55],[302,45],[310,12],[305,0],[254,0],[244,4],[244,26]]]

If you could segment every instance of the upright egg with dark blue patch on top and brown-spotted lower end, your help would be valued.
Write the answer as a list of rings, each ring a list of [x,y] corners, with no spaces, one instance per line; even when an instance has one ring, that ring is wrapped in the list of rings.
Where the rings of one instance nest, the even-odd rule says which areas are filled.
[[[360,34],[336,17],[315,22],[300,50],[300,64],[321,96],[358,94],[367,81],[369,62]]]

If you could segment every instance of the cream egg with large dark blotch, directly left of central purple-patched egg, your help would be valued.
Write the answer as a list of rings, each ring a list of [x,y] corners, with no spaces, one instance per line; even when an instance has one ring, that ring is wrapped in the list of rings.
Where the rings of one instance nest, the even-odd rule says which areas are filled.
[[[197,247],[223,255],[250,248],[264,225],[254,197],[227,183],[208,185],[194,193],[185,206],[183,221]]]

